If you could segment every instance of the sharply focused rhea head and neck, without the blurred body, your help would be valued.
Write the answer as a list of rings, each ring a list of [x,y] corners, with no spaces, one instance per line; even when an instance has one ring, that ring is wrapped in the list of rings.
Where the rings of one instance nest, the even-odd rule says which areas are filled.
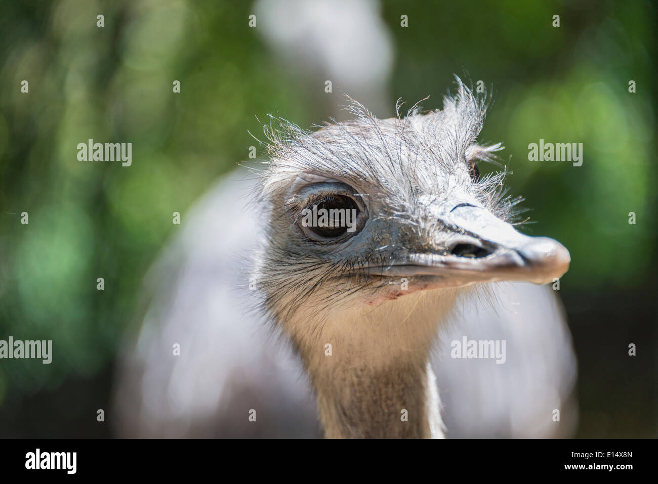
[[[477,163],[500,149],[476,142],[485,108],[459,83],[426,114],[382,120],[352,103],[350,122],[266,130],[253,277],[309,374],[326,437],[442,437],[429,355],[457,301],[569,267],[563,245],[515,229],[504,174],[480,178]],[[302,224],[313,206],[355,210],[356,230]]]

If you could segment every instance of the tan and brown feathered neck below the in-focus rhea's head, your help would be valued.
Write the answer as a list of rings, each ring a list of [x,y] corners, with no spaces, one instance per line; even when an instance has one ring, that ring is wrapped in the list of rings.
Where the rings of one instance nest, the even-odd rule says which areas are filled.
[[[428,359],[453,298],[405,298],[284,324],[311,376],[326,437],[443,436]]]

